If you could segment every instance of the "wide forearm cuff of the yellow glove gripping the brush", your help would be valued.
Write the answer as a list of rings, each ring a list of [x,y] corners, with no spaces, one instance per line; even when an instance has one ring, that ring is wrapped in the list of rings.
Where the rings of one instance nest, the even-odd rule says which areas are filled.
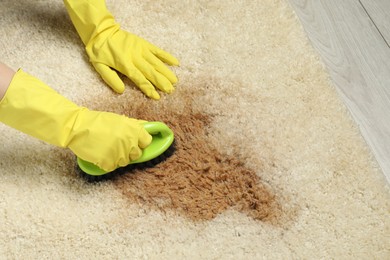
[[[0,101],[0,121],[47,143],[67,147],[81,107],[18,70]]]

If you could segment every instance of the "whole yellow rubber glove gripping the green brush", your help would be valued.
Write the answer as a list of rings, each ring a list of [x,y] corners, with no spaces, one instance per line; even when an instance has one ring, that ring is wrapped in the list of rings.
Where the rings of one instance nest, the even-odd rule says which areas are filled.
[[[107,172],[138,159],[152,141],[144,121],[79,107],[21,70],[0,102],[0,121]]]

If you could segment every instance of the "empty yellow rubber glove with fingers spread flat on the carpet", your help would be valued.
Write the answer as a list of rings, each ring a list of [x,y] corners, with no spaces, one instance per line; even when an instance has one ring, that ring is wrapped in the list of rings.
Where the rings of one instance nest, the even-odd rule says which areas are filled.
[[[171,93],[177,82],[164,64],[178,65],[171,54],[144,39],[120,29],[107,11],[104,0],[64,0],[91,63],[116,92],[124,84],[116,71],[130,78],[150,98],[159,99],[155,87]]]

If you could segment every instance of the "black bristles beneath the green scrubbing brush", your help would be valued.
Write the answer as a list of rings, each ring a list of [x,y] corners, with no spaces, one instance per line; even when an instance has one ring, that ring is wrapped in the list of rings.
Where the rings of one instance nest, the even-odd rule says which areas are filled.
[[[172,145],[160,156],[157,156],[156,158],[143,162],[143,163],[137,163],[137,164],[129,164],[125,167],[121,167],[116,169],[115,171],[100,175],[100,176],[95,176],[95,175],[90,175],[85,172],[83,172],[79,167],[77,167],[80,175],[88,182],[101,182],[101,181],[107,181],[107,180],[112,180],[120,175],[123,174],[129,174],[135,170],[144,170],[148,168],[153,168],[159,163],[167,160],[169,157],[171,157],[176,151],[176,142],[173,141]]]

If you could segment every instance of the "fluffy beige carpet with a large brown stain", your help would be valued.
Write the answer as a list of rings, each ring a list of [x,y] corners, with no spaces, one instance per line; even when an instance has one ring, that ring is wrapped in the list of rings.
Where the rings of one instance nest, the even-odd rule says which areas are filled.
[[[71,152],[0,125],[0,258],[390,258],[389,187],[286,1],[108,7],[180,59],[172,95],[114,94],[59,0],[2,0],[0,59],[78,104],[166,122],[176,153],[88,183]]]

